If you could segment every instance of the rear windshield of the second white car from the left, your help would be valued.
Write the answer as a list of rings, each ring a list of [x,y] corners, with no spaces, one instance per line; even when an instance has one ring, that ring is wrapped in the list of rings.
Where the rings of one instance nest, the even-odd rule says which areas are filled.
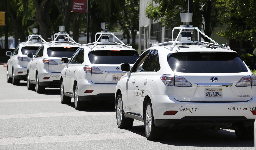
[[[78,47],[50,47],[47,49],[49,57],[72,57]]]

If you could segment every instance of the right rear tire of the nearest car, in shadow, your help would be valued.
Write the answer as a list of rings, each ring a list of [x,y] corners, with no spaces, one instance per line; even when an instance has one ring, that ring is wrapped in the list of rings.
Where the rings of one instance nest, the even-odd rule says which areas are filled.
[[[236,129],[235,133],[239,140],[253,140],[253,126],[248,126],[242,129]]]

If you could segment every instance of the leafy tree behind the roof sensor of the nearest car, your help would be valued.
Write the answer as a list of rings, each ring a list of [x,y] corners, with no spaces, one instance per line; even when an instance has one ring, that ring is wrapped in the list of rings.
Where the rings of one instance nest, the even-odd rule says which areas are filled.
[[[162,26],[169,28],[177,27],[181,24],[180,13],[188,12],[188,1],[179,0],[154,0],[157,4],[153,6],[149,3],[146,8],[146,16],[155,21],[159,21]],[[220,26],[218,18],[223,14],[223,7],[216,7],[216,0],[194,0],[193,20],[194,27],[202,29],[207,36],[211,36],[215,27]],[[202,37],[205,41],[209,39]]]

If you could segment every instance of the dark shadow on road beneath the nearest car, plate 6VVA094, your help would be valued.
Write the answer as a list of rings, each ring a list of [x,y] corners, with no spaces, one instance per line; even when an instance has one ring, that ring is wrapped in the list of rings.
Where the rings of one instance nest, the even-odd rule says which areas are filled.
[[[135,125],[129,131],[145,136],[143,125]],[[234,130],[231,130],[234,131]],[[198,147],[253,147],[253,140],[238,140],[235,132],[221,129],[166,129],[162,140],[155,142],[176,146]]]

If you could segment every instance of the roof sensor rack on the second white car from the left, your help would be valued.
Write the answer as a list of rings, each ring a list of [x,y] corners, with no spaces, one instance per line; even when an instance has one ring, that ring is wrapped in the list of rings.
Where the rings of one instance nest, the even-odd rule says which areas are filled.
[[[65,33],[65,26],[59,26],[59,33],[55,33],[54,34],[54,40],[47,42],[49,45],[53,45],[53,44],[60,44],[60,43],[72,43],[72,44],[76,44],[76,45],[81,45],[79,43],[77,43],[76,41],[74,41],[68,33]],[[59,39],[58,39],[59,38]],[[65,38],[68,38],[68,41],[65,41]],[[58,41],[57,41],[58,40]],[[70,41],[71,40],[71,41]]]

